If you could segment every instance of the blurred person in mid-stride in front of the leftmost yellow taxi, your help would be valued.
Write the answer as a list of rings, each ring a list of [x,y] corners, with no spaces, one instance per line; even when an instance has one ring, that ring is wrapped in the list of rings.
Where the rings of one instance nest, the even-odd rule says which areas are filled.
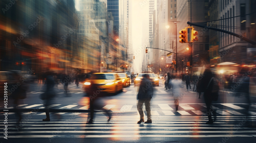
[[[93,117],[94,117],[94,109],[100,109],[99,105],[99,98],[104,96],[104,93],[101,92],[102,89],[99,89],[97,87],[97,83],[94,83],[93,80],[91,80],[91,90],[89,91],[89,98],[90,98],[90,120],[87,122],[87,124],[93,124]],[[106,116],[109,117],[108,122],[111,119],[111,110],[105,110],[102,109]],[[89,116],[88,116],[89,118]]]

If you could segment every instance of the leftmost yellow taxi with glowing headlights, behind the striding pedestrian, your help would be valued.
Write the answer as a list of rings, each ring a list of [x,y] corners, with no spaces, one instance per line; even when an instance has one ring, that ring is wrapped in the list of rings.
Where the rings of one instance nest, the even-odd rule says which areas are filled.
[[[89,93],[91,82],[96,84],[100,92],[116,93],[123,90],[122,78],[117,73],[93,73],[83,84],[86,93]]]

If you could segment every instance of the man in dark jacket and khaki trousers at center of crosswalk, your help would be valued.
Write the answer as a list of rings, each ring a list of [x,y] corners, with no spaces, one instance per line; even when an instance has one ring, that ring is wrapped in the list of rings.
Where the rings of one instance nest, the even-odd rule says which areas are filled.
[[[147,111],[147,121],[144,123],[152,123],[152,120],[150,118],[151,116],[150,101],[151,101],[151,98],[153,97],[153,86],[152,86],[152,82],[149,80],[148,74],[144,74],[142,75],[142,77],[143,78],[141,79],[141,84],[140,84],[139,92],[137,95],[137,99],[138,99],[137,110],[140,113],[140,121],[137,122],[138,124],[140,124],[141,122],[144,122],[144,114],[142,110],[142,106],[144,102],[145,102],[145,107]]]

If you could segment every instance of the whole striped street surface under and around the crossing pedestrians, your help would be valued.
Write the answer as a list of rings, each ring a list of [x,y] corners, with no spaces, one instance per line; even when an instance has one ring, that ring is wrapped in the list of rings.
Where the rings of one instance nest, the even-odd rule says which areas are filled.
[[[38,91],[41,84],[35,85],[33,90]],[[107,122],[103,112],[97,112],[94,124],[88,125],[86,109],[89,108],[89,97],[83,93],[81,86],[72,88],[72,85],[74,84],[69,88],[69,95],[60,89],[50,108],[66,110],[50,113],[49,122],[42,121],[45,113],[40,111],[43,106],[38,98],[39,93],[29,93],[20,109],[30,109],[31,112],[22,113],[20,127],[16,125],[14,113],[8,113],[8,142],[222,142],[223,139],[238,142],[243,139],[253,141],[256,137],[255,128],[244,125],[247,118],[243,98],[225,92],[221,93],[218,102],[212,104],[217,112],[217,120],[213,125],[205,124],[206,106],[204,98],[198,99],[198,93],[187,91],[184,87],[179,110],[175,112],[173,97],[169,90],[164,90],[161,82],[159,87],[154,88],[152,124],[136,123],[139,120],[136,92],[131,85],[117,95],[100,99],[100,103],[104,105],[102,108],[113,112],[110,122]],[[223,103],[223,100],[226,102]],[[251,117],[248,119],[254,123],[255,107],[256,104],[251,105]]]

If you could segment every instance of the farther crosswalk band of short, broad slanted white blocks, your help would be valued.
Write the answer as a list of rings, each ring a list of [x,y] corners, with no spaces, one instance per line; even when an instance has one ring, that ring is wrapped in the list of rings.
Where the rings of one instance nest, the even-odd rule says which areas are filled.
[[[212,104],[212,109],[218,115],[246,115],[247,112],[244,107],[246,104],[243,103],[216,103]],[[1,108],[1,107],[0,107]],[[12,109],[13,107],[9,107],[7,109]],[[43,104],[34,104],[34,105],[19,105],[20,109],[44,109]],[[90,105],[81,106],[77,104],[72,105],[62,105],[62,104],[53,104],[48,106],[49,109],[72,109],[73,111],[79,110],[82,112],[83,110],[88,110]],[[111,110],[112,112],[137,112],[136,105],[105,105],[101,107],[105,110]],[[143,106],[145,110],[145,105]],[[205,115],[206,105],[201,103],[180,103],[178,107],[178,111],[175,112],[174,104],[152,104],[151,105],[151,114],[152,115]],[[66,110],[66,112],[68,112]],[[87,112],[87,111],[84,111]],[[256,115],[256,106],[255,104],[251,105],[251,109],[248,112],[251,115]]]

